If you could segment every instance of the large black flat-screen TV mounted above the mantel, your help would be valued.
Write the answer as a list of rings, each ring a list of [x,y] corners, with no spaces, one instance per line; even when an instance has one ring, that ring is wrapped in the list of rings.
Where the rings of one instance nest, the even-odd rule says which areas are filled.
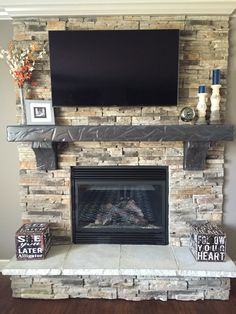
[[[53,106],[176,105],[178,30],[49,32]]]

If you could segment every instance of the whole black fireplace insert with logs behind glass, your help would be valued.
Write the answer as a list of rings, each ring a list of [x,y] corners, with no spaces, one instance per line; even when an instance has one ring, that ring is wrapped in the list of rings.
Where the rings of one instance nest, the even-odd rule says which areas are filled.
[[[168,244],[167,167],[72,167],[74,243]]]

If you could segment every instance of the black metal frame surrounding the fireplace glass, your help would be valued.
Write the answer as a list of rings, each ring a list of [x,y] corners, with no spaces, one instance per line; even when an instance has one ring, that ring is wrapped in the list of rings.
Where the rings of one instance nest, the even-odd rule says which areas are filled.
[[[91,182],[104,179],[106,182],[115,181],[159,181],[164,186],[162,206],[162,222],[159,229],[115,229],[78,228],[76,225],[77,202],[74,197],[79,182]],[[101,167],[71,167],[71,196],[72,196],[72,238],[75,244],[169,244],[168,226],[168,193],[169,175],[166,166],[101,166]]]

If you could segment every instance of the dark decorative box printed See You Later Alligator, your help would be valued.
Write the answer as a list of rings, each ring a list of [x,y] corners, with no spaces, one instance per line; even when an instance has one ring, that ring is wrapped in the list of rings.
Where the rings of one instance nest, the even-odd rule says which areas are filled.
[[[16,258],[18,260],[44,259],[51,246],[51,234],[47,223],[24,224],[17,230]]]

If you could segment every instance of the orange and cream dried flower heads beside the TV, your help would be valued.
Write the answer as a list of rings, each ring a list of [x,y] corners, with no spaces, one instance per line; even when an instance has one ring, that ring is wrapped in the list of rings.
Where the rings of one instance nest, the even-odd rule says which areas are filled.
[[[0,58],[5,59],[10,68],[10,74],[18,87],[22,88],[24,82],[31,79],[36,60],[42,59],[46,53],[44,47],[41,51],[39,48],[40,46],[36,42],[31,43],[28,48],[23,49],[11,41],[7,50],[0,50]]]

